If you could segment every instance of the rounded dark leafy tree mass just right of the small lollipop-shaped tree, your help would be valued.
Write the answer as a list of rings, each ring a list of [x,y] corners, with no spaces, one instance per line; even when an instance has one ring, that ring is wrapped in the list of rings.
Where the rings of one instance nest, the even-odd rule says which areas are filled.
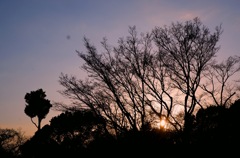
[[[50,125],[45,125],[38,130],[22,146],[22,155],[26,158],[82,156],[88,150],[90,152],[88,148],[91,143],[99,144],[97,140],[113,139],[106,132],[104,120],[91,111],[65,111],[59,116],[53,117]],[[104,143],[100,145],[104,146]],[[93,147],[91,151],[93,151]]]

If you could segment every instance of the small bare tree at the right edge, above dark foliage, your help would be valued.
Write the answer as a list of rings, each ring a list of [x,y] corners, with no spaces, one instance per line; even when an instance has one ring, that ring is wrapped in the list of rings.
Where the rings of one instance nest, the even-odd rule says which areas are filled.
[[[227,107],[239,98],[240,57],[230,56],[221,63],[214,62],[205,72],[205,83],[201,85],[211,101],[208,104]],[[209,97],[208,97],[209,100]]]

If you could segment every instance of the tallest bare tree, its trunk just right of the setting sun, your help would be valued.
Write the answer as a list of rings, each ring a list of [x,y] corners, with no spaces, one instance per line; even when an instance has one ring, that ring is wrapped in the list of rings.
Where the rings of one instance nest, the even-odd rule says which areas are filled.
[[[184,24],[177,22],[153,30],[158,59],[169,73],[174,98],[177,98],[174,103],[183,107],[185,123],[196,105],[201,106],[197,95],[200,81],[219,50],[216,44],[221,33],[221,26],[218,26],[211,34],[198,17]]]

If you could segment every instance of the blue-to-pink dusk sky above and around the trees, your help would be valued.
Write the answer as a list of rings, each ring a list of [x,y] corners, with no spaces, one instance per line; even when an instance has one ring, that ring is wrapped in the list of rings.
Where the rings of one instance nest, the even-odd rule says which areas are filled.
[[[68,103],[59,90],[61,72],[85,78],[77,51],[83,37],[97,48],[128,35],[199,17],[214,31],[222,25],[217,56],[240,55],[239,0],[0,0],[0,128],[32,136],[37,128],[24,113],[26,93],[42,88],[51,102]],[[50,109],[42,122],[59,112]],[[36,120],[35,120],[36,121]]]

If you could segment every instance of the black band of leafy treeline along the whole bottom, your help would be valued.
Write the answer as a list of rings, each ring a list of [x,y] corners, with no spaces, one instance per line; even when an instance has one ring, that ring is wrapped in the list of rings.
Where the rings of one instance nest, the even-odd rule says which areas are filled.
[[[116,135],[109,133],[104,119],[90,110],[66,111],[52,118],[49,125],[29,139],[24,139],[17,131],[1,129],[0,155],[1,158],[230,156],[238,152],[239,113],[240,100],[237,100],[229,108],[209,106],[198,110],[191,118],[191,130],[187,133],[149,126],[145,131]]]

